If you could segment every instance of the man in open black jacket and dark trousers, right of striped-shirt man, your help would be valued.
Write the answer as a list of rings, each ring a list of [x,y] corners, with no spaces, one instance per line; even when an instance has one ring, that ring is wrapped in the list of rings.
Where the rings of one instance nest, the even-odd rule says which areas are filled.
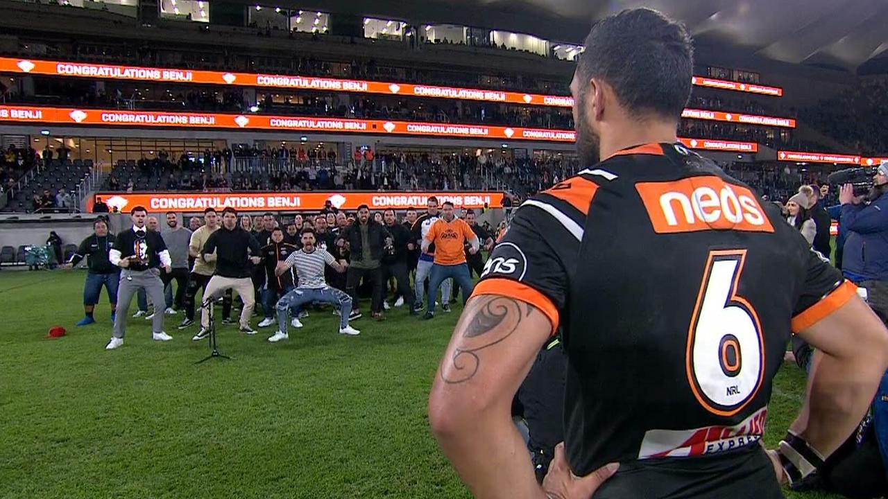
[[[362,277],[369,279],[373,287],[373,299],[370,302],[370,312],[377,320],[381,320],[383,313],[383,279],[382,263],[383,251],[387,246],[385,239],[391,234],[382,224],[378,224],[370,218],[370,209],[366,204],[358,207],[358,218],[350,226],[346,226],[342,233],[343,239],[349,243],[352,251],[352,261],[346,275],[345,292],[352,296],[354,308],[350,320],[360,319],[361,310],[358,308],[358,284]]]

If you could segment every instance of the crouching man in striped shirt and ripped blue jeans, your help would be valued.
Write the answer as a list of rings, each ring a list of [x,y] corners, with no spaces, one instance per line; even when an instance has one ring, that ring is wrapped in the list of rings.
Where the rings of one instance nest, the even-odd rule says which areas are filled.
[[[302,249],[292,253],[283,262],[278,263],[274,273],[281,275],[290,268],[296,267],[299,286],[293,289],[280,300],[275,309],[278,313],[278,331],[268,341],[277,343],[289,338],[287,333],[287,320],[289,310],[295,309],[293,326],[302,327],[302,322],[297,319],[300,308],[314,302],[329,303],[339,306],[339,334],[355,336],[361,333],[358,329],[348,325],[348,315],[352,313],[352,297],[336,288],[331,288],[324,281],[324,265],[330,265],[337,272],[343,273],[348,268],[345,260],[336,261],[326,249],[314,246],[314,229],[306,227],[302,231]]]

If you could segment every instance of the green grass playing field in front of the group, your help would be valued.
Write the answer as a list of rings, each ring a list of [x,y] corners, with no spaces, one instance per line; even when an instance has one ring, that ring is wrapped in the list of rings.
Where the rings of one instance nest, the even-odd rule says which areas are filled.
[[[106,352],[103,296],[98,323],[75,329],[83,277],[0,273],[0,497],[470,496],[426,419],[459,307],[430,322],[404,309],[361,319],[360,337],[313,313],[278,345],[220,326],[234,360],[195,366],[208,347],[175,328],[180,315],[167,318],[173,341],[152,342],[148,322],[131,319],[123,347]],[[67,337],[44,338],[52,325]],[[804,386],[794,365],[781,370],[769,446]]]

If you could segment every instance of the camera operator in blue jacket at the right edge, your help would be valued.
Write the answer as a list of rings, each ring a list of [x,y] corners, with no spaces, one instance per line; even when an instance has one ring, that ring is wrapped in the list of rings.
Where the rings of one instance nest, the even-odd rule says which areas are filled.
[[[870,307],[888,320],[888,163],[882,163],[866,196],[855,196],[851,184],[842,186],[841,226],[847,233],[842,270],[845,277],[867,289]],[[866,202],[865,202],[866,201]]]

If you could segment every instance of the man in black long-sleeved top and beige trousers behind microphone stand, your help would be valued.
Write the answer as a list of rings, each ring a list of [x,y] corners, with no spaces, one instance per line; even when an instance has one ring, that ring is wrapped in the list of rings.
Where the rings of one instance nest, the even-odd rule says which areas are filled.
[[[248,265],[248,262],[258,265],[262,259],[260,253],[256,238],[237,225],[237,211],[231,207],[222,210],[222,226],[210,235],[210,239],[203,245],[201,251],[201,258],[204,261],[216,260],[216,272],[207,283],[203,296],[205,306],[202,307],[201,313],[201,333],[210,327],[209,307],[206,305],[212,304],[212,301],[222,296],[226,289],[234,289],[243,300],[241,332],[247,335],[256,334],[256,331],[250,328],[250,317],[253,315],[253,307],[256,306],[254,300],[256,290],[250,279],[253,267]],[[265,274],[265,269],[261,267],[259,269]],[[201,338],[194,337],[194,339]]]

